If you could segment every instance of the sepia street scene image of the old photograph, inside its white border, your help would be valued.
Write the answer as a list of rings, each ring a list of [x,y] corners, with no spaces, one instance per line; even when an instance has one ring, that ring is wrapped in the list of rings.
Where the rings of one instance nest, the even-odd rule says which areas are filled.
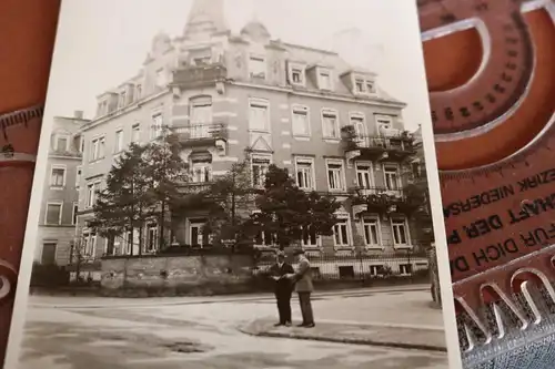
[[[63,1],[19,368],[446,369],[427,99],[414,1]]]

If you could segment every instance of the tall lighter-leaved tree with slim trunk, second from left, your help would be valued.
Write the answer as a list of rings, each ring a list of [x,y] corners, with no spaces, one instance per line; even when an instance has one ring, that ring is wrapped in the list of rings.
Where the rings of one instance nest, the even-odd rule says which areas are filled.
[[[171,219],[167,219],[170,206],[180,197],[180,186],[186,180],[188,164],[180,156],[181,145],[175,134],[163,136],[145,147],[143,155],[144,177],[150,183],[147,196],[151,204],[152,217],[159,225],[159,245],[165,244],[167,227],[171,227]]]

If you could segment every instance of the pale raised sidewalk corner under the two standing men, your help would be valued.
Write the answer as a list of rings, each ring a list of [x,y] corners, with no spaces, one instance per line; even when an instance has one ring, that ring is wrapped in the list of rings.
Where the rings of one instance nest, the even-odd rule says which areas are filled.
[[[446,352],[442,330],[377,325],[319,321],[314,328],[274,327],[271,319],[253,320],[239,327],[243,334],[259,337],[303,339],[350,345],[386,346],[403,349]]]

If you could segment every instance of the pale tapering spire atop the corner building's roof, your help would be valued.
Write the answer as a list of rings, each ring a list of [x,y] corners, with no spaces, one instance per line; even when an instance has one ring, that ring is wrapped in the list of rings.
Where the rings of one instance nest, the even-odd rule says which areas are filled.
[[[228,31],[224,0],[194,0],[183,31],[185,39],[196,39]]]

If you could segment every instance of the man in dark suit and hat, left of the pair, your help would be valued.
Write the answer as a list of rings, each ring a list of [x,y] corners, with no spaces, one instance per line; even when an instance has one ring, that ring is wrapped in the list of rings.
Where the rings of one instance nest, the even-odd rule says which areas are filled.
[[[285,253],[278,252],[276,263],[270,267],[270,275],[275,280],[275,299],[278,300],[278,311],[280,321],[279,326],[291,326],[291,295],[293,294],[293,281],[286,278],[287,275],[294,274],[293,266],[285,262]]]

